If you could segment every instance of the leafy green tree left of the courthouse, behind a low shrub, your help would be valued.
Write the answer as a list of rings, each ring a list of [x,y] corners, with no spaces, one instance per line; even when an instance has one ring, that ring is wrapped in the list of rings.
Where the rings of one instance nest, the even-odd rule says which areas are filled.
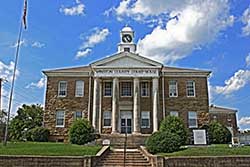
[[[9,137],[12,140],[31,140],[31,129],[41,127],[44,110],[41,105],[23,104],[18,108],[17,115],[11,120]]]

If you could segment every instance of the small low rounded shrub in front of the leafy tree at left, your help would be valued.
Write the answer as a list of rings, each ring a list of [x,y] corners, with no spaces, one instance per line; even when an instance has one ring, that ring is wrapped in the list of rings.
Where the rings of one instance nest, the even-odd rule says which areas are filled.
[[[28,132],[27,139],[36,142],[47,142],[49,138],[49,130],[43,127],[36,127]]]

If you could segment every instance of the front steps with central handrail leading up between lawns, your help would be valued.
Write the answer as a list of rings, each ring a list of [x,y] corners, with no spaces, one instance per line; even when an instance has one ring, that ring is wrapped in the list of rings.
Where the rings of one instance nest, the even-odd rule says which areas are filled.
[[[150,162],[138,149],[127,149],[124,163],[124,150],[113,149],[97,163],[97,167],[151,167]]]

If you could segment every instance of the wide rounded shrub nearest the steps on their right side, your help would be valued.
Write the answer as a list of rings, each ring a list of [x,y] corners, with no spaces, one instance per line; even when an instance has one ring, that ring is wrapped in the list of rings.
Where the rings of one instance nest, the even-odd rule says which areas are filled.
[[[180,136],[175,133],[170,133],[169,131],[155,132],[146,140],[146,147],[148,151],[153,154],[178,151],[180,146]]]

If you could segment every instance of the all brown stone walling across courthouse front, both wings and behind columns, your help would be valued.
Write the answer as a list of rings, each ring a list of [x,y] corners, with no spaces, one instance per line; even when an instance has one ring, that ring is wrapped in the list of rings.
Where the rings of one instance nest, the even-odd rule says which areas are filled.
[[[183,118],[186,126],[188,127],[188,111],[196,111],[198,113],[198,125],[206,124],[209,122],[208,115],[208,87],[206,77],[164,77],[159,79],[159,105],[158,105],[158,121],[159,124],[163,119],[163,98],[162,98],[162,79],[164,79],[164,96],[165,96],[165,112],[166,115],[170,111],[178,111],[179,116]],[[84,81],[84,96],[75,97],[75,82],[77,80]],[[170,80],[176,80],[178,82],[178,97],[169,97],[169,85]],[[194,80],[196,87],[196,96],[186,96],[186,81]],[[58,83],[59,81],[67,81],[67,97],[58,97]],[[111,81],[112,78],[107,78],[102,82],[102,112],[112,112],[112,97],[104,97],[104,83],[105,81]],[[132,97],[119,97],[120,110],[122,107],[129,108],[133,111],[133,79],[119,79],[119,87],[121,92],[121,82],[130,81],[132,83]],[[150,111],[150,128],[141,129],[142,133],[152,133],[153,127],[153,99],[152,99],[152,79],[140,79],[140,82],[148,81],[150,92],[149,97],[140,96],[140,111]],[[93,80],[92,88],[93,91]],[[91,93],[91,99],[93,93]],[[45,115],[44,125],[50,130],[50,140],[66,139],[68,136],[68,128],[73,122],[74,111],[82,111],[84,117],[88,117],[88,99],[89,99],[89,78],[85,77],[48,77],[46,101],[45,101]],[[56,127],[56,111],[65,111],[65,127]],[[92,101],[90,110],[90,120],[92,120]],[[103,128],[103,114],[101,116],[102,133],[111,133],[111,128]],[[234,119],[232,119],[234,121]],[[119,125],[118,125],[119,126]]]

